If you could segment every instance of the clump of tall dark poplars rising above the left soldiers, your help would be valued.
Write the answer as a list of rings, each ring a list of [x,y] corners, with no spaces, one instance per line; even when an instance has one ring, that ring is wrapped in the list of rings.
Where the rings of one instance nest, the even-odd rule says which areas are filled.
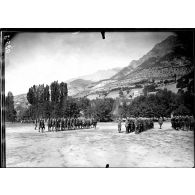
[[[68,97],[67,84],[54,81],[50,86],[34,85],[29,88],[27,100],[30,104],[27,117],[56,117],[65,111],[65,101]],[[29,116],[28,116],[29,115]]]

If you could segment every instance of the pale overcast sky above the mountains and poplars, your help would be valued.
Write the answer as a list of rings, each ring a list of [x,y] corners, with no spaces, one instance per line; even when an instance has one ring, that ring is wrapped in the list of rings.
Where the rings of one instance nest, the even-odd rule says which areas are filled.
[[[128,66],[171,35],[170,32],[20,33],[6,54],[5,90],[27,93],[34,84],[50,84]]]

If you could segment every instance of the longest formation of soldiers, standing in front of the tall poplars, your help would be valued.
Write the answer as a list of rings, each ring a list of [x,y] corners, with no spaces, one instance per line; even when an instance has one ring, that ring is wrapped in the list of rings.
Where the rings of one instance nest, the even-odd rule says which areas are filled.
[[[39,132],[44,132],[45,123],[49,132],[96,128],[97,126],[97,120],[94,118],[49,118],[47,120],[41,118],[35,120],[35,130],[38,128]]]

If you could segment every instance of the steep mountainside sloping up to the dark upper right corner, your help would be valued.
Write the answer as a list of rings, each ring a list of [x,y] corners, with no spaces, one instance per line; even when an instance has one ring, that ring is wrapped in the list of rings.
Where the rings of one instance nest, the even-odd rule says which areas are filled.
[[[132,88],[137,83],[147,84],[151,80],[162,83],[164,80],[179,79],[193,69],[189,45],[179,36],[172,35],[106,82],[93,86],[85,95],[105,97],[120,88]]]

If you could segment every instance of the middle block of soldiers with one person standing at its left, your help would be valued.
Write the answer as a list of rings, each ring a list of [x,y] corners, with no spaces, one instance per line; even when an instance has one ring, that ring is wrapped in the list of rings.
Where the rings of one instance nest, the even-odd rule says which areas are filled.
[[[121,120],[118,121],[118,131],[121,132]],[[126,133],[135,132],[136,134],[154,128],[154,122],[150,118],[129,118],[125,121]]]

